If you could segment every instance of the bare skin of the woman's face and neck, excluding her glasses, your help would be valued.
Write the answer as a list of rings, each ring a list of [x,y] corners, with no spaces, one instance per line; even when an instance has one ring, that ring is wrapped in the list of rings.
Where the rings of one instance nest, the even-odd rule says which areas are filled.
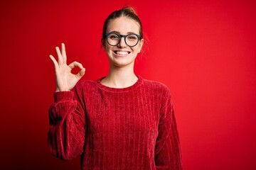
[[[136,33],[139,35],[139,23],[126,16],[121,16],[110,21],[107,27],[107,33],[115,31],[119,34],[127,35]],[[137,81],[137,76],[134,74],[134,61],[137,54],[142,50],[144,40],[140,40],[134,47],[129,47],[124,38],[121,39],[117,46],[111,46],[105,40],[105,52],[110,61],[110,72],[101,83],[105,86],[113,88],[125,88],[132,86]],[[128,52],[127,55],[119,55],[119,52]]]

